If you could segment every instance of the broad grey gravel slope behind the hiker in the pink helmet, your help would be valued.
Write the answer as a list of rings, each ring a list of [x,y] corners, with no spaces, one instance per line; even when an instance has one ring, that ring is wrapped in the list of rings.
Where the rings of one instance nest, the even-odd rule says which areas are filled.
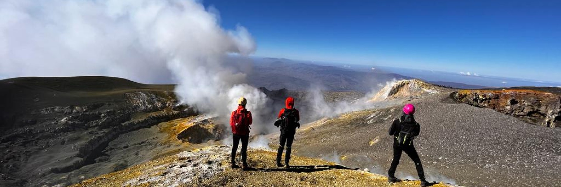
[[[448,94],[411,101],[421,124],[415,147],[429,181],[466,186],[561,184],[559,128],[530,125],[494,110],[456,104]],[[401,106],[394,106],[320,120],[298,131],[293,150],[387,175],[393,141],[387,130],[400,115]],[[278,140],[272,139],[276,145]],[[411,159],[403,154],[401,160],[397,176],[416,178]]]

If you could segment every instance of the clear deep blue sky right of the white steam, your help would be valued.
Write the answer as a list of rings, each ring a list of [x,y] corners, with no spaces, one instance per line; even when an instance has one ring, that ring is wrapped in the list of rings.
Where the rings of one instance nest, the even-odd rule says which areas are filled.
[[[255,56],[561,82],[561,1],[203,1]]]

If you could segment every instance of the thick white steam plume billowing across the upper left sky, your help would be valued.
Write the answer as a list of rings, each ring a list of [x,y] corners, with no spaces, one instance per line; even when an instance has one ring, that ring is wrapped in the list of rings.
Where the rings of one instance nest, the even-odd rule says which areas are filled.
[[[174,80],[182,101],[224,122],[241,96],[265,111],[265,95],[224,64],[227,54],[254,52],[254,40],[242,26],[220,28],[214,12],[194,0],[1,1],[0,78]]]

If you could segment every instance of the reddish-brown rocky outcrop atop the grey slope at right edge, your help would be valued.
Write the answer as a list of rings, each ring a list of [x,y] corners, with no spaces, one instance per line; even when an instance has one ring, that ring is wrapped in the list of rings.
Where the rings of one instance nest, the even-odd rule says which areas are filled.
[[[530,124],[561,126],[561,95],[535,90],[459,90],[451,93],[450,98],[491,108]]]

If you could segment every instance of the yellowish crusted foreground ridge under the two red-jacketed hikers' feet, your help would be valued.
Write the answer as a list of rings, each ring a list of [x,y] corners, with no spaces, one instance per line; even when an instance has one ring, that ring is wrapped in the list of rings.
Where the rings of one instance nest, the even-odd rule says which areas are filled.
[[[293,157],[291,168],[274,166],[272,150],[249,149],[252,170],[229,168],[231,147],[208,147],[194,152],[142,163],[123,171],[102,175],[75,186],[387,186],[387,177],[326,162]],[[419,185],[404,181],[392,186]],[[443,183],[433,186],[453,186]]]

